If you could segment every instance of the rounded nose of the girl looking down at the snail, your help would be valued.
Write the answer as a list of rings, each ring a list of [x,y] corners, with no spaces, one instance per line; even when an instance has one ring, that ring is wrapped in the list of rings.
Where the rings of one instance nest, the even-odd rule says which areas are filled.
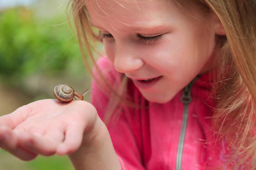
[[[114,67],[119,73],[139,70],[144,65],[136,49],[129,46],[115,46]]]

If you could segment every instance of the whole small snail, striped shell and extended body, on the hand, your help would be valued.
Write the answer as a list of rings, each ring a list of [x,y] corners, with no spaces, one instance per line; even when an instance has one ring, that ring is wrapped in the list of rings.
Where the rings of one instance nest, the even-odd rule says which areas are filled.
[[[86,90],[85,92],[80,94],[79,92],[73,90],[73,88],[68,86],[67,84],[58,84],[54,88],[53,94],[56,97],[56,99],[59,100],[61,103],[67,103],[73,100],[73,98],[77,100],[84,100],[84,95],[91,90]]]

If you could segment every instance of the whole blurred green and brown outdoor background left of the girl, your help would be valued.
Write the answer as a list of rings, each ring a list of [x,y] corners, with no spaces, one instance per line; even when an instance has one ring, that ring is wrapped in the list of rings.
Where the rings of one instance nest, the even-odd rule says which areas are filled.
[[[68,0],[0,0],[0,115],[35,100],[54,98],[56,84],[90,88]],[[86,96],[85,100],[88,99]],[[73,169],[67,156],[22,162],[0,150],[1,170]]]

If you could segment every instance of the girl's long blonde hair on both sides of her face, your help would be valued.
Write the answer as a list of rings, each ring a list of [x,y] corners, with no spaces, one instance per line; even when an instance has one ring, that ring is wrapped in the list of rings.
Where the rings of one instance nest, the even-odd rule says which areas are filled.
[[[226,36],[216,36],[218,54],[216,57],[214,97],[216,112],[212,116],[217,139],[226,143],[229,167],[243,165],[245,169],[256,169],[255,101],[256,101],[256,2],[253,0],[173,0],[182,8],[191,4],[202,11],[213,11],[222,23]],[[86,67],[95,65],[89,38],[97,39],[90,27],[85,2],[71,1],[77,39],[80,42],[82,58]],[[88,57],[86,58],[86,53]],[[101,78],[104,75],[97,68]],[[91,73],[91,72],[90,72]],[[123,76],[125,82],[127,78]],[[97,79],[96,79],[97,81]],[[123,83],[126,84],[126,83]],[[122,91],[112,90],[105,81],[110,94],[121,99]],[[105,88],[106,89],[106,88]],[[115,100],[117,101],[117,100]],[[126,104],[127,100],[123,103]],[[111,103],[114,107],[118,102]],[[110,109],[112,112],[114,108]],[[236,163],[236,164],[235,164]]]

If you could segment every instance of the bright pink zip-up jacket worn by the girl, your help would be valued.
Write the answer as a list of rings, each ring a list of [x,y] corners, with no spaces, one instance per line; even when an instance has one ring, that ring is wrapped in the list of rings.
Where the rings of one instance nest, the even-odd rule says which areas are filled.
[[[110,84],[119,78],[106,57],[98,66]],[[213,169],[220,165],[220,146],[214,142],[209,118],[214,108],[209,79],[204,74],[195,80],[187,105],[180,101],[183,91],[165,104],[148,102],[129,82],[127,90],[142,108],[122,108],[118,119],[108,125],[122,169]],[[109,97],[94,81],[92,86],[92,104],[104,119]]]

